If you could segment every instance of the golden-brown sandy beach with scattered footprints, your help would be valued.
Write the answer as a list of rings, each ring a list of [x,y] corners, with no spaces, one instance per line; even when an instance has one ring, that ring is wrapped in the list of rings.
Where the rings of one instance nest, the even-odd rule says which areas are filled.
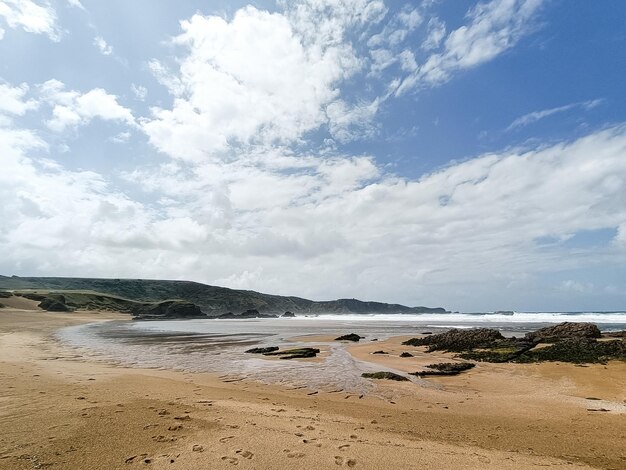
[[[9,306],[0,309],[0,469],[626,468],[624,363],[479,364],[429,378],[433,387],[377,383],[387,399],[309,395],[87,360],[50,335],[126,316]],[[449,360],[399,338],[350,349],[404,371]],[[371,354],[380,349],[390,354]],[[406,350],[418,356],[399,358]],[[587,411],[600,408],[610,411]]]

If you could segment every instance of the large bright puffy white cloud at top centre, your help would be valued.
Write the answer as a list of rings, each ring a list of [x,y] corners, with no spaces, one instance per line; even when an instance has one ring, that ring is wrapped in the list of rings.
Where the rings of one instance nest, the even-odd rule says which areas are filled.
[[[185,50],[179,69],[169,73],[151,63],[175,100],[143,121],[150,142],[175,158],[199,161],[232,146],[292,143],[325,124],[337,86],[360,67],[351,46],[337,42],[343,25],[369,14],[340,5],[344,16],[326,12],[328,21],[316,17],[322,29],[311,30],[305,6],[313,8],[298,5],[285,16],[246,7],[232,21],[200,15],[183,21],[174,39]]]

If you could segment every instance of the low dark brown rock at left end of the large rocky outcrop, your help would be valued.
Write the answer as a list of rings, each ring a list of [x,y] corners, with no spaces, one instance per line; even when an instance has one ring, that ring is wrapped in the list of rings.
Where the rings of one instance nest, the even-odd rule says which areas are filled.
[[[452,329],[445,333],[430,335],[425,338],[411,338],[402,344],[408,346],[428,346],[428,351],[467,351],[474,348],[493,346],[504,336],[490,328],[474,328],[471,330]]]

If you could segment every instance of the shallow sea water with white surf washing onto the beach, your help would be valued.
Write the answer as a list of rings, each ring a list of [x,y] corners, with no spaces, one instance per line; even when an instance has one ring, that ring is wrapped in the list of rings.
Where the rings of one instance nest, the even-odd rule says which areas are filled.
[[[245,351],[258,346],[311,346],[302,338],[298,340],[303,335],[336,337],[356,333],[368,342],[450,328],[489,327],[513,336],[563,321],[593,322],[603,331],[626,329],[624,312],[321,314],[246,320],[110,321],[64,328],[57,336],[85,356],[129,366],[211,372],[224,380],[245,378],[294,388],[366,393],[373,387],[361,374],[381,370],[381,366],[356,360],[346,344],[316,343],[328,349],[321,362],[268,360]],[[432,386],[418,378],[411,380]]]

